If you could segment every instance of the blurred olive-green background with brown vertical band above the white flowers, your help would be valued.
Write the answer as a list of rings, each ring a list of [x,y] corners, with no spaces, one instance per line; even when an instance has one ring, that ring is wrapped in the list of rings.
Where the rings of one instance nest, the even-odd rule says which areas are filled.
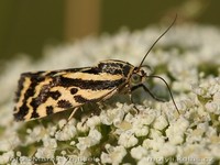
[[[2,0],[0,66],[19,54],[36,59],[45,46],[172,22],[220,24],[217,0]]]

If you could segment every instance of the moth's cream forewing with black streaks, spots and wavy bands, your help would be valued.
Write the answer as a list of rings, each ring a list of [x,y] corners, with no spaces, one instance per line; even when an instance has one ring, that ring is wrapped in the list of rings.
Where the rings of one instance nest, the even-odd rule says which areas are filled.
[[[96,68],[25,73],[19,80],[15,120],[32,120],[108,99],[123,82],[122,76]]]

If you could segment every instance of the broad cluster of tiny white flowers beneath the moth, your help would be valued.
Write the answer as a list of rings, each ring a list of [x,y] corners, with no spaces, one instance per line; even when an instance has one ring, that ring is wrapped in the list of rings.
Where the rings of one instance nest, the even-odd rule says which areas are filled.
[[[172,101],[158,102],[140,94],[146,100],[136,106],[139,112],[132,103],[116,100],[99,116],[81,121],[13,121],[20,73],[90,66],[108,58],[139,65],[144,46],[161,33],[158,28],[123,30],[114,36],[48,48],[37,64],[24,57],[11,62],[0,78],[0,91],[6,94],[0,98],[0,164],[220,163],[220,31],[210,26],[175,26],[146,58],[177,94],[180,114]],[[162,86],[156,86],[157,94],[163,92]]]

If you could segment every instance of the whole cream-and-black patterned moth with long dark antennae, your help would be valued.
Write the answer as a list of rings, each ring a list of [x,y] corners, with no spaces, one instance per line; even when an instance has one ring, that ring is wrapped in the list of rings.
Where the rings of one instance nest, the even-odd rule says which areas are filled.
[[[147,78],[163,80],[176,107],[167,82],[160,76],[147,75],[142,68],[147,54],[174,22],[153,43],[138,67],[123,61],[108,59],[91,67],[21,74],[14,119],[29,121],[74,109],[70,119],[86,103],[98,103],[122,91],[131,95],[138,88],[155,98],[143,84]]]

